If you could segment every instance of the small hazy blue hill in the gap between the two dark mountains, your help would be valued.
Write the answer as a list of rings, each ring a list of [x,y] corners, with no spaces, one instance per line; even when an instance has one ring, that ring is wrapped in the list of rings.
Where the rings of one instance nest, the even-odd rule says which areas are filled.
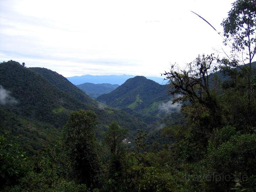
[[[118,84],[109,84],[109,83],[102,83],[102,84],[93,84],[93,83],[84,83],[81,85],[76,85],[79,89],[84,91],[92,98],[97,98],[102,94],[107,94],[114,89],[116,89],[119,85]]]

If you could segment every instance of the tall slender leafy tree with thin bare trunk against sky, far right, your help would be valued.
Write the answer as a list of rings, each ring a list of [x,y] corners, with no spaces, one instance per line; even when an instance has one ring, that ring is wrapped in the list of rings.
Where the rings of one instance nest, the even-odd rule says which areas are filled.
[[[247,89],[248,89],[248,120],[250,123],[251,112],[251,84],[254,79],[252,76],[252,59],[256,53],[256,2],[255,0],[236,0],[232,9],[229,11],[228,17],[222,22],[224,28],[224,36],[232,42],[232,52],[240,52],[242,62],[245,64],[249,60],[249,68],[247,70]],[[244,54],[246,57],[244,58]]]

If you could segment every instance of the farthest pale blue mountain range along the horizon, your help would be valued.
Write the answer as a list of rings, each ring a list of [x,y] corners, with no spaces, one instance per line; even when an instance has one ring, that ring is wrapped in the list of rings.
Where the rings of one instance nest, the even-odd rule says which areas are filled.
[[[127,79],[134,78],[134,75],[82,75],[82,76],[73,76],[68,77],[67,79],[74,85],[80,85],[85,82],[90,82],[94,84],[110,83],[122,85]],[[159,84],[166,84],[167,81],[164,81],[164,78],[159,77],[147,77]]]

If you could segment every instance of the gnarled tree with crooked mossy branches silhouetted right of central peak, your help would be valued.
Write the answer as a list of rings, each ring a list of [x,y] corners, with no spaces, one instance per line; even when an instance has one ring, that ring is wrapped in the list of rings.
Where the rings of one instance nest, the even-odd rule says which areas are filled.
[[[213,55],[199,55],[194,62],[187,64],[186,69],[180,69],[174,64],[171,66],[170,72],[162,74],[170,82],[171,95],[180,95],[180,97],[173,100],[173,104],[189,101],[196,107],[198,117],[201,116],[200,113],[202,112],[199,107],[206,108],[209,116],[214,119],[212,121],[212,128],[218,127],[220,124],[217,112],[219,105],[214,94],[215,92],[212,91],[210,86],[211,77],[213,77],[213,73],[218,69],[214,63],[216,59]],[[197,104],[199,107],[197,107]]]

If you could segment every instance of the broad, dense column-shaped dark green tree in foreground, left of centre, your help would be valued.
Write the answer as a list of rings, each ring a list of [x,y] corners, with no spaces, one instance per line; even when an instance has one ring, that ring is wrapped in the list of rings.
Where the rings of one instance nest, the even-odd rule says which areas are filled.
[[[95,126],[94,112],[75,111],[69,115],[62,135],[63,146],[72,164],[72,174],[79,183],[86,183],[87,186],[97,183],[100,171]]]

